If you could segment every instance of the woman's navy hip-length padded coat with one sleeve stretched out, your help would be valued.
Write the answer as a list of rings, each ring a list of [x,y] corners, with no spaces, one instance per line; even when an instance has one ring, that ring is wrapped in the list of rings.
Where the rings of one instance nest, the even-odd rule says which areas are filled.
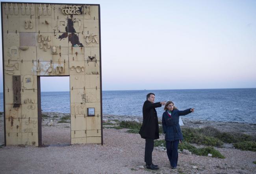
[[[187,110],[172,111],[171,117],[168,115],[168,110],[165,110],[162,117],[163,133],[165,133],[165,141],[175,141],[183,139],[183,135],[179,125],[180,115],[187,115],[191,113],[190,108]]]

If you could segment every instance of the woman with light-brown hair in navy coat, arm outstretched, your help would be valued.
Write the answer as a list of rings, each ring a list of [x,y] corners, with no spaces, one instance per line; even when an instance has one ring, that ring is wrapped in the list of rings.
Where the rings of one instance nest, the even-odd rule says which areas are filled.
[[[165,134],[165,143],[167,156],[172,169],[176,169],[178,163],[178,144],[182,142],[183,135],[179,125],[180,115],[187,115],[194,112],[194,108],[184,111],[178,110],[172,101],[165,104],[165,112],[162,117],[163,133]]]

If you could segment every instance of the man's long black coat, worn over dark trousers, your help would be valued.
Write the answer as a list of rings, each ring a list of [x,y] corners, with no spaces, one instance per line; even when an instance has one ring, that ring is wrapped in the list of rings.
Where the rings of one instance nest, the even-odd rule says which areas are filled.
[[[156,109],[161,107],[160,102],[151,103],[146,100],[143,104],[143,123],[139,134],[142,138],[159,139],[158,117]]]

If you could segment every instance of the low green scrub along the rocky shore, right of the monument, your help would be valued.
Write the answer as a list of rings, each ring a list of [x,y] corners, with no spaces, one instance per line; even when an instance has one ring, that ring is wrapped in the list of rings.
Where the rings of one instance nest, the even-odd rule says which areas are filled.
[[[105,123],[104,125],[111,125],[111,123]],[[127,132],[137,134],[139,133],[141,125],[142,123],[137,123],[136,121],[121,121],[119,126],[115,126],[113,128],[127,128],[129,129]],[[162,126],[159,126],[159,133],[163,133]],[[235,148],[239,148],[241,150],[251,150],[254,152],[256,151],[256,137],[252,137],[240,132],[221,132],[216,128],[206,126],[204,128],[182,128],[182,133],[184,141],[187,143],[196,143],[210,147],[222,147],[223,143],[233,143]],[[162,141],[160,145],[162,143],[165,145],[165,141]],[[155,143],[155,146],[158,146],[158,144]],[[221,155],[217,154],[213,148],[201,148],[200,151],[204,151],[204,153],[212,151],[211,154],[216,153],[218,158],[222,158]],[[199,152],[194,153],[200,154]]]

